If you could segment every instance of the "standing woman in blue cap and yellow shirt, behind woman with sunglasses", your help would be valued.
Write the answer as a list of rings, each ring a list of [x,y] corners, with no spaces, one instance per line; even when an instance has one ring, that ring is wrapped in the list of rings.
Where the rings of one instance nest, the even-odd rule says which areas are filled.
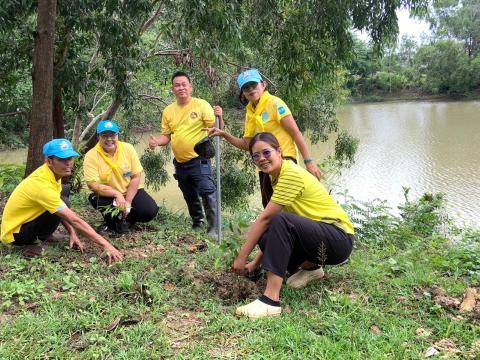
[[[284,158],[297,162],[298,152],[302,154],[306,169],[320,180],[322,174],[315,165],[305,143],[305,139],[297,126],[287,104],[279,97],[271,95],[257,69],[249,69],[238,75],[240,102],[246,105],[245,129],[242,138],[228,132],[210,128],[209,136],[221,136],[241,150],[248,151],[252,137],[259,132],[271,132],[282,147]],[[215,115],[222,117],[220,106],[214,107]],[[262,204],[265,207],[272,196],[272,185],[268,176],[259,173]]]

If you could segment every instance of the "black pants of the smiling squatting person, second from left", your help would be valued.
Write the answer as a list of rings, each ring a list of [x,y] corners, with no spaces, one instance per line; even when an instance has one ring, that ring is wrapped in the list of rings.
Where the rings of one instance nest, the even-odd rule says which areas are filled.
[[[97,209],[98,207],[112,205],[114,198],[98,196],[96,193],[92,193],[89,195],[88,200],[90,204]],[[122,220],[122,214],[112,217],[110,213],[105,213],[102,209],[100,209],[100,212],[111,229],[115,228],[115,223]],[[138,189],[132,200],[132,210],[127,215],[126,220],[131,224],[136,222],[149,222],[153,220],[157,212],[158,206],[155,200],[153,200],[144,189]]]

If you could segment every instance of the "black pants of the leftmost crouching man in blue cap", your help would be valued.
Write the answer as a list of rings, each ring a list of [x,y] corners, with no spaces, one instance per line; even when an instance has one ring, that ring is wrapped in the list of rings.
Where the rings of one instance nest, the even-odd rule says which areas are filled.
[[[62,185],[62,192],[60,197],[63,202],[70,206],[70,185]],[[50,214],[48,211],[42,213],[36,219],[23,224],[20,227],[18,234],[13,234],[13,245],[30,245],[38,240],[44,240],[53,234],[53,232],[60,225],[60,218],[55,214]]]

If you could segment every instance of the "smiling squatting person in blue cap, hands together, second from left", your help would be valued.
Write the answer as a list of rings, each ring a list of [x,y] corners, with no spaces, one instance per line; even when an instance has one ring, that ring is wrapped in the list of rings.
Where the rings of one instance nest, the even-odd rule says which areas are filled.
[[[143,167],[135,148],[119,141],[118,133],[116,122],[102,120],[98,123],[98,143],[85,155],[83,173],[92,191],[88,200],[105,219],[102,230],[124,233],[136,222],[153,220],[158,206],[143,189]],[[120,212],[112,215],[105,208],[109,205]]]

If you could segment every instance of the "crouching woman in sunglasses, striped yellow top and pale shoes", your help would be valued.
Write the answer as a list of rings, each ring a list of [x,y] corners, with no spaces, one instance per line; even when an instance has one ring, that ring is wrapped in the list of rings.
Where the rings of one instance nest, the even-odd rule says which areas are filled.
[[[275,136],[257,133],[249,151],[255,165],[272,180],[273,195],[251,226],[239,251],[233,270],[252,272],[262,265],[267,286],[254,302],[238,307],[236,314],[251,319],[278,316],[280,289],[287,274],[287,285],[302,288],[323,277],[323,265],[336,265],[350,256],[353,225],[348,215],[307,170],[282,158]],[[255,245],[260,250],[249,263]]]

